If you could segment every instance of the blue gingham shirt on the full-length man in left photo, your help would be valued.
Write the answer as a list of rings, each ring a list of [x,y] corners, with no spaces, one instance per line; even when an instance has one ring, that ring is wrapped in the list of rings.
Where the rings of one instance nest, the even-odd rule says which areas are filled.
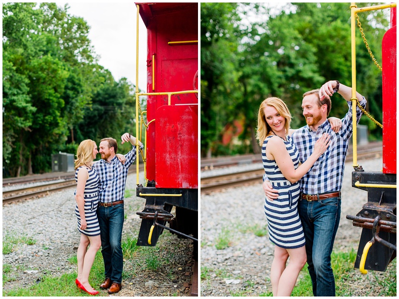
[[[140,148],[142,149],[143,145]],[[136,160],[136,146],[133,146],[133,149],[125,157],[126,161],[124,165],[116,156],[111,159],[110,163],[104,159],[94,162],[93,167],[100,177],[98,199],[101,203],[110,203],[124,199],[128,170]]]

